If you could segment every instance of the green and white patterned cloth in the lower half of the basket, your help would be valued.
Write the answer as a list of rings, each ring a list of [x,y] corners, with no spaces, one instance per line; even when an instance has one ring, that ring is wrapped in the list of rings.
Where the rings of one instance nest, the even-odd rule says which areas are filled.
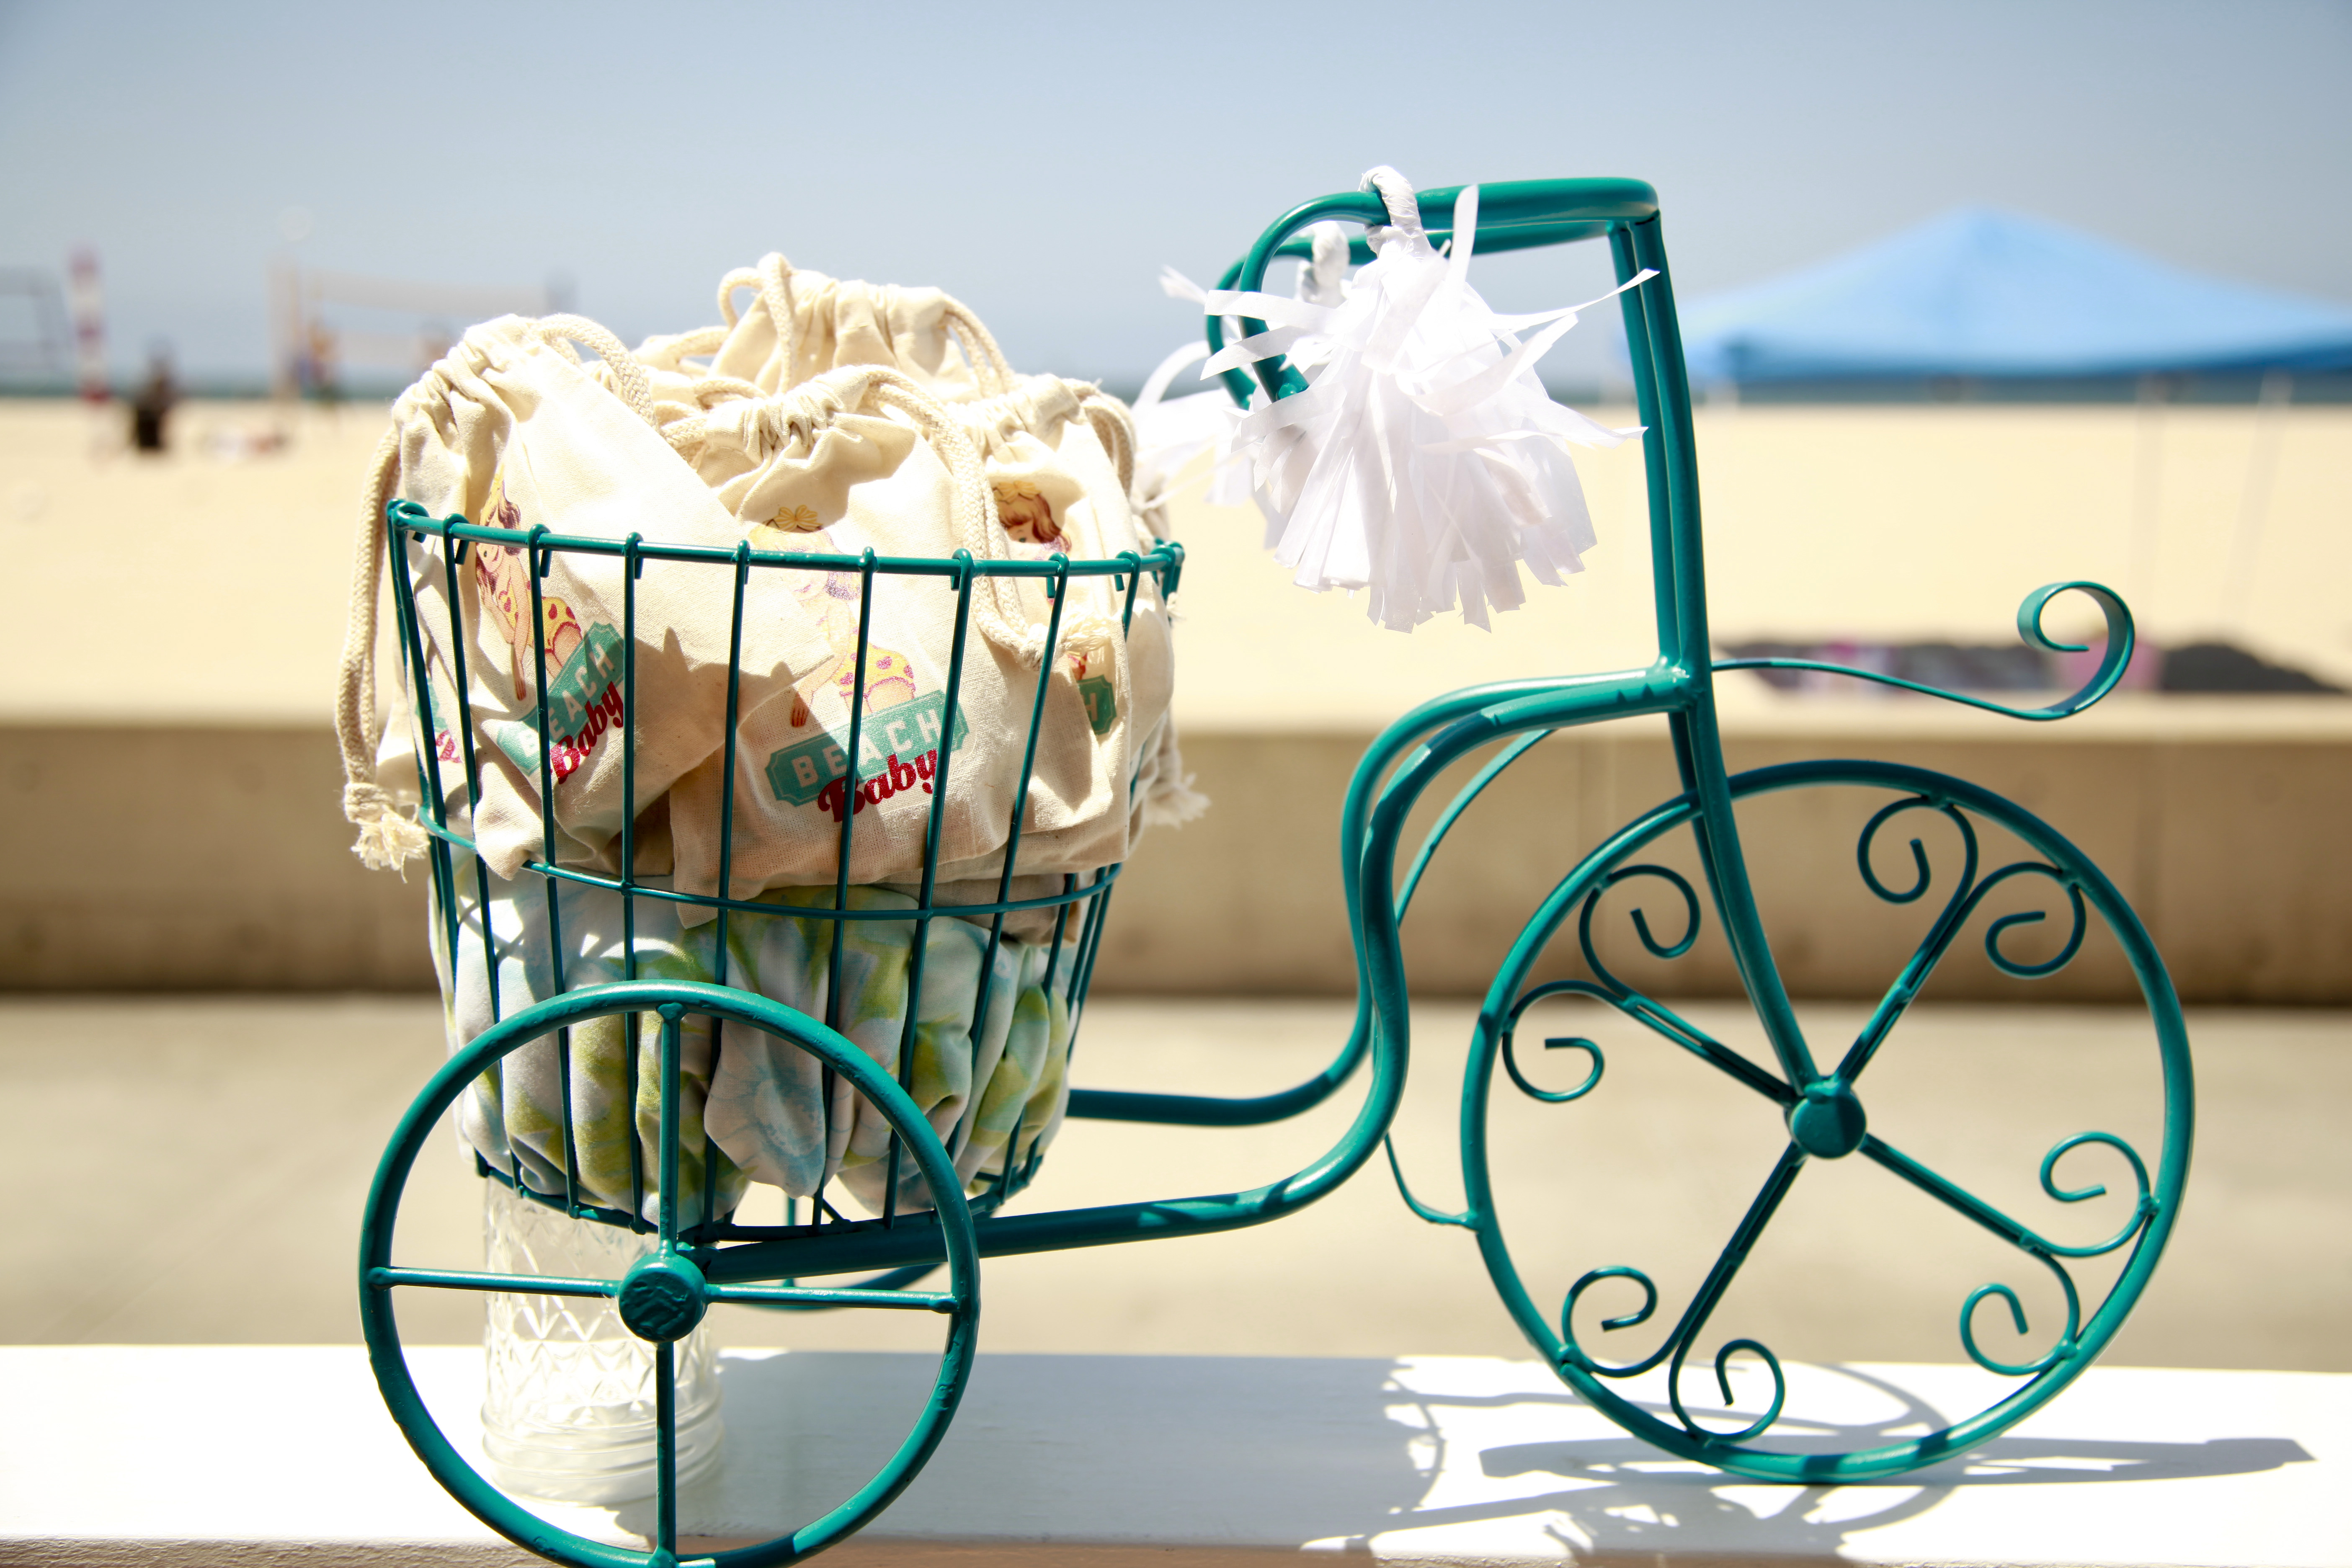
[[[473,867],[459,870],[459,950],[433,919],[433,961],[442,983],[449,1048],[459,1051],[496,1018],[557,992],[548,891],[539,877],[489,877],[489,931],[496,938],[496,1004],[485,961],[482,898]],[[649,879],[666,886],[666,879]],[[562,990],[623,980],[621,896],[555,882],[562,929]],[[833,922],[793,914],[830,907],[833,889],[774,889],[757,898],[776,914],[727,919],[727,964],[717,964],[717,922],[684,929],[687,905],[635,900],[640,980],[703,980],[757,992],[826,1018]],[[913,910],[915,900],[880,886],[849,889],[854,910]],[[898,1074],[917,924],[913,919],[844,922],[840,1032]],[[1070,922],[1077,929],[1077,919]],[[934,917],[922,938],[922,997],[915,1006],[910,1093],[955,1157],[967,1190],[1002,1175],[1007,1154],[1028,1161],[1061,1126],[1068,1103],[1070,1009],[1065,990],[1077,945],[1004,936],[990,964],[988,926]],[[985,969],[985,976],[983,976]],[[1047,976],[1051,971],[1051,985]],[[985,978],[985,985],[983,985]],[[974,1025],[976,1009],[985,1006]],[[572,1143],[581,1199],[600,1208],[630,1206],[630,1138],[644,1161],[644,1218],[656,1215],[661,1128],[661,1020],[637,1018],[635,1051],[626,1018],[572,1027]],[[870,1211],[882,1208],[889,1124],[847,1081],[826,1105],[821,1063],[790,1041],[724,1025],[713,1051],[708,1018],[687,1016],[682,1032],[680,1213],[703,1215],[703,1131],[717,1145],[717,1213],[729,1213],[750,1182],[809,1197],[826,1180]],[[635,1056],[635,1103],[630,1058]],[[713,1056],[717,1070],[713,1072]],[[976,1103],[976,1105],[974,1105]],[[539,1190],[564,1190],[564,1121],[555,1037],[536,1039],[485,1072],[459,1100],[459,1133],[496,1171]],[[1018,1135],[1018,1147],[1011,1147]],[[929,1208],[915,1161],[898,1159],[898,1206]]]

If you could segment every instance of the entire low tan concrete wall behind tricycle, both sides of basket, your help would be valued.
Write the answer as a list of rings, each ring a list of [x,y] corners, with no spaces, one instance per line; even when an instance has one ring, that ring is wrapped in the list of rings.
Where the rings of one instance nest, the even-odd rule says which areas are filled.
[[[2326,722],[2077,726],[1922,724],[1907,705],[1806,710],[1733,731],[1733,766],[1882,757],[1990,785],[2067,832],[2138,907],[2192,1001],[2352,1004],[2352,726]],[[2317,712],[2317,710],[2314,710]],[[1216,802],[1155,832],[1115,903],[1096,985],[1105,992],[1331,994],[1352,990],[1338,891],[1338,806],[1359,733],[1192,733],[1188,764]],[[1606,830],[1670,797],[1663,729],[1555,736],[1522,759],[1449,839],[1406,950],[1430,994],[1475,994],[1536,900]],[[0,987],[12,990],[405,990],[430,985],[423,877],[367,872],[336,809],[334,741],[315,729],[0,729]],[[1910,879],[1919,835],[1938,889],[1915,905],[1872,898],[1856,837],[1886,795],[1818,790],[1755,802],[1743,837],[1790,987],[1872,997],[1933,917],[1957,837],[1884,835],[1882,877]],[[1432,809],[1430,809],[1432,811]],[[1425,811],[1423,816],[1428,816]],[[1917,823],[1919,818],[1910,818]],[[2016,858],[1987,835],[1985,865]],[[1686,837],[1658,860],[1696,875]],[[1658,994],[1733,994],[1712,910],[1689,957],[1658,964],[1625,907],[1679,931],[1670,893],[1621,889],[1602,954]],[[2030,882],[2025,884],[2030,886]],[[2124,999],[2131,978],[2093,931],[2082,957],[2037,983],[1992,971],[1983,926],[2051,910],[2023,891],[1978,914],[1929,994]],[[2042,931],[2053,929],[2046,924]],[[2025,957],[2046,952],[2018,931]],[[1571,973],[1555,945],[1548,966]]]

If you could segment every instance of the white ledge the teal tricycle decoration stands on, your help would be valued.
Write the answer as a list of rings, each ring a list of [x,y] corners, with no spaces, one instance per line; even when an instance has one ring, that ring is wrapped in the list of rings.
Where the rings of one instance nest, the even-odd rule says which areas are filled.
[[[412,1352],[461,1450],[480,1352]],[[896,1446],[936,1363],[729,1352],[710,1542],[804,1523]],[[1884,1422],[1976,1408],[1950,1366],[1792,1368]],[[915,1486],[830,1559],[1143,1563],[2352,1566],[2352,1375],[2093,1368],[1966,1462],[1759,1486],[1621,1434],[1543,1366],[1477,1356],[981,1356]],[[1846,1418],[1839,1415],[1839,1420]],[[644,1544],[649,1507],[553,1523]],[[529,1561],[407,1453],[358,1347],[0,1347],[0,1561],[259,1568]]]

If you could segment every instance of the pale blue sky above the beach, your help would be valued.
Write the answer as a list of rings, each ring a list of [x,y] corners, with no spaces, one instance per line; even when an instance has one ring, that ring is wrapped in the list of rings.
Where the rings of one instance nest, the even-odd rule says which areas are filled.
[[[263,367],[289,207],[313,266],[562,270],[630,341],[781,249],[946,287],[1023,369],[1131,381],[1192,329],[1162,263],[1209,277],[1392,162],[1649,179],[1684,294],[1992,202],[2347,299],[2347,85],[2343,0],[0,0],[0,266],[94,244],[118,367],[167,336],[214,376]],[[1484,277],[1538,306],[1597,270]]]

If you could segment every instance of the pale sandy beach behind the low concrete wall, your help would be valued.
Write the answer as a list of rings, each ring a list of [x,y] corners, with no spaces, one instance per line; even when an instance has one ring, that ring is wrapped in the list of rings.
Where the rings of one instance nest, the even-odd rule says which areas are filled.
[[[160,458],[122,454],[118,425],[0,402],[0,717],[322,719],[381,407],[195,402]],[[287,447],[249,454],[270,430]],[[2352,682],[2352,409],[1710,407],[1698,451],[1717,642],[2002,644],[2027,590],[2096,578],[2157,642],[2230,637]],[[1256,512],[1195,487],[1174,508],[1178,719],[1355,729],[1475,679],[1646,663],[1639,444],[1578,468],[1602,541],[1588,571],[1529,588],[1491,632],[1411,637],[1289,588]]]

